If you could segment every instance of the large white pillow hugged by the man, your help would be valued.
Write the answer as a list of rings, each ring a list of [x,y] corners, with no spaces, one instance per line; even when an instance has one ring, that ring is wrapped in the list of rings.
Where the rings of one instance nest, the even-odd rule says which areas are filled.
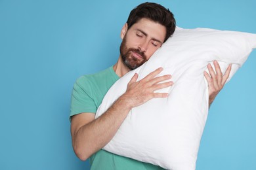
[[[103,149],[165,169],[196,169],[208,113],[208,89],[203,71],[214,60],[219,61],[223,72],[232,63],[230,80],[253,48],[256,48],[256,34],[178,27],[152,58],[110,88],[96,117],[125,92],[135,73],[139,73],[140,80],[163,67],[161,75],[173,76],[174,85],[160,90],[169,92],[169,97],[152,99],[133,108]]]

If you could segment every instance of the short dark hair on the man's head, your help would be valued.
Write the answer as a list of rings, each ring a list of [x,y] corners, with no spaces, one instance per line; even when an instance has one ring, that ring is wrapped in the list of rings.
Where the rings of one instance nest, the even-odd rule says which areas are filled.
[[[131,10],[127,20],[128,29],[142,18],[147,18],[166,27],[164,42],[171,37],[175,31],[176,22],[173,13],[160,4],[142,3]]]

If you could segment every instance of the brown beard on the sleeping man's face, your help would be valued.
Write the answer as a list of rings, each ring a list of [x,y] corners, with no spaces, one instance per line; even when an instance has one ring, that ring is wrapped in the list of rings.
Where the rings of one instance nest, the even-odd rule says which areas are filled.
[[[139,54],[142,58],[136,58],[133,56],[133,52]],[[138,48],[127,48],[126,36],[123,37],[123,41],[121,42],[120,54],[123,64],[130,70],[140,67],[140,65],[147,61],[144,52],[141,52]]]

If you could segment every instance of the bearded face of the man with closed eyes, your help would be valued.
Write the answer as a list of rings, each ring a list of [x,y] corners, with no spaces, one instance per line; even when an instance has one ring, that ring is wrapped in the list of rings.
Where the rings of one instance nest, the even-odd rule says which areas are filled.
[[[125,66],[133,70],[146,62],[165,39],[166,29],[163,25],[142,18],[136,24],[122,29],[120,54]]]

